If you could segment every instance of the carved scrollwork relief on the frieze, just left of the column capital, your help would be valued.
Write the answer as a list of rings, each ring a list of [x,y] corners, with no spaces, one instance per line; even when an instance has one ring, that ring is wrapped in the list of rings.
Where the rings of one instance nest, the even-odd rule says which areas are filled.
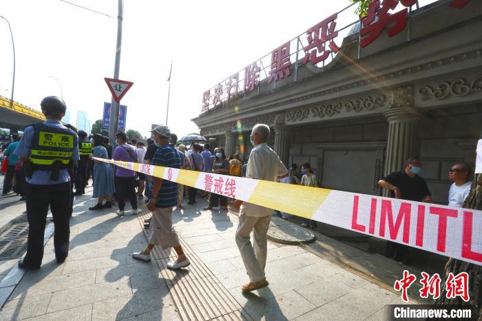
[[[384,107],[386,97],[378,95],[375,97],[366,96],[350,101],[338,101],[333,104],[318,105],[309,108],[300,108],[298,110],[290,110],[286,112],[286,121],[294,123],[308,118],[310,112],[313,118],[331,117],[341,112],[361,112],[362,110],[373,110],[375,107]],[[344,109],[344,110],[343,110]]]

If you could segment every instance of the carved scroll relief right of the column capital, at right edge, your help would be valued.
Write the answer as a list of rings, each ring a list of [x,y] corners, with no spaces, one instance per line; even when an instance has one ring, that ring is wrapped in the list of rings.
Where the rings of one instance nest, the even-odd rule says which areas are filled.
[[[468,82],[464,78],[457,78],[452,82],[442,81],[434,89],[430,85],[423,86],[419,89],[421,99],[437,99],[442,100],[450,96],[463,97],[480,92],[482,90],[482,75],[476,76],[472,82]]]

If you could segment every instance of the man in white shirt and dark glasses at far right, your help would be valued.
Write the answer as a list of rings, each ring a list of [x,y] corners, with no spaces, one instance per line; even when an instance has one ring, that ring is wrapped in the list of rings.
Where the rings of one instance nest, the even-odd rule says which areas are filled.
[[[455,164],[448,171],[448,177],[454,183],[450,186],[448,191],[448,205],[454,207],[463,207],[465,198],[470,194],[470,174],[472,168],[468,164]]]

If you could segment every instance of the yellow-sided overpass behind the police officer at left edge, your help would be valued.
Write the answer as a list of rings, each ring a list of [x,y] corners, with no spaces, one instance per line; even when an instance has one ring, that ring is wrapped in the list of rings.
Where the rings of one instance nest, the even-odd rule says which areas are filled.
[[[38,110],[13,102],[10,99],[0,96],[0,127],[8,128],[10,134],[23,130],[26,125],[45,121],[45,116]]]

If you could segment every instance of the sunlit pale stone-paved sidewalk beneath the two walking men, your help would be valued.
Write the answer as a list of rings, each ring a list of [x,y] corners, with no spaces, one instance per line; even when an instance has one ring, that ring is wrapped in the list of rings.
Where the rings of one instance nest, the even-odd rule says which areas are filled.
[[[56,263],[51,238],[41,269],[25,273],[1,320],[385,320],[386,304],[401,303],[399,293],[348,271],[333,256],[325,260],[306,246],[273,242],[269,287],[243,295],[248,278],[234,240],[238,218],[201,211],[201,199],[174,211],[191,265],[169,271],[173,252],[157,248],[156,260],[139,262],[132,252],[146,245],[144,203],[142,214],[123,218],[115,208],[88,211],[94,203],[85,197],[74,207],[67,261]]]

